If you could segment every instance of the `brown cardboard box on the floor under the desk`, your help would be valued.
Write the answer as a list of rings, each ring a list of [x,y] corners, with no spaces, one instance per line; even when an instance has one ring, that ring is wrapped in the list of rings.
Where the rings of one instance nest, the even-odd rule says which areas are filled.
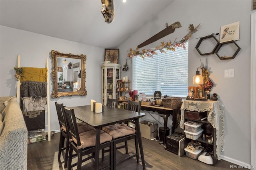
[[[141,137],[146,139],[153,139],[157,136],[157,123],[152,123],[148,121],[140,122],[140,132]]]

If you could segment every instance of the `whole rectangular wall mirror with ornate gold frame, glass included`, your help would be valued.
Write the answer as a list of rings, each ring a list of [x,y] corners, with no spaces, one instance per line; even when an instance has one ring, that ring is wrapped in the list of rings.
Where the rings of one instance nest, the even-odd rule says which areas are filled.
[[[59,51],[52,53],[52,98],[61,96],[87,95],[85,89],[86,55],[64,54]]]

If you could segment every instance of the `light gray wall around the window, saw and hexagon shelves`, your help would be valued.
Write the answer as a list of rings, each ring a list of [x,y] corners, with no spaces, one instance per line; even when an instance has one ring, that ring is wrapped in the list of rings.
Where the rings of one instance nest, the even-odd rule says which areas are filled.
[[[255,10],[254,10],[255,11]],[[200,66],[200,60],[208,59],[210,78],[214,81],[212,93],[218,94],[218,100],[224,105],[225,143],[222,158],[239,165],[250,165],[250,14],[251,0],[176,0],[158,14],[151,22],[142,27],[119,46],[120,63],[124,64],[128,50],[166,28],[165,23],[178,21],[182,25],[175,32],[143,48],[160,45],[161,41],[180,40],[188,33],[189,24],[201,24],[198,32],[189,40],[188,72],[189,86],[193,86],[192,77]],[[240,21],[241,47],[234,59],[220,60],[216,54],[201,56],[195,49],[200,37],[220,32],[220,27]],[[216,37],[219,40],[219,36]],[[132,77],[132,67],[128,59],[128,71],[121,76]],[[224,78],[225,69],[234,69],[234,78]],[[255,152],[252,151],[252,152]]]

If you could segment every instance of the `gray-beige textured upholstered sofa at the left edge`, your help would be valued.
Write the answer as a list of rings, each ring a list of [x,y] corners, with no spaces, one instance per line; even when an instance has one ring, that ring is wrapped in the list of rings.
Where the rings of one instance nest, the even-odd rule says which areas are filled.
[[[28,130],[17,98],[0,97],[0,113],[0,169],[26,170]]]

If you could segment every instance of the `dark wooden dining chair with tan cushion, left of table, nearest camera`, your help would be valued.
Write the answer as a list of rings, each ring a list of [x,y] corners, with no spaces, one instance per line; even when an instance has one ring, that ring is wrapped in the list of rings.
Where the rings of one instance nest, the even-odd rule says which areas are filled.
[[[77,166],[77,169],[80,170],[82,166],[82,162],[90,160],[94,158],[94,153],[96,152],[96,130],[89,130],[86,132],[79,133],[78,126],[76,123],[76,117],[74,113],[74,109],[68,109],[66,107],[62,107],[64,110],[64,114],[66,115],[67,120],[67,132],[70,141],[70,148],[68,154],[68,170],[72,167]],[[100,146],[99,149],[110,147],[110,161],[109,166],[104,169],[112,169],[113,168],[113,140],[112,136],[108,133],[100,130]],[[77,162],[72,164],[72,153],[76,152],[78,158]],[[89,155],[90,154],[90,155]],[[82,159],[83,156],[88,155],[88,157]]]

